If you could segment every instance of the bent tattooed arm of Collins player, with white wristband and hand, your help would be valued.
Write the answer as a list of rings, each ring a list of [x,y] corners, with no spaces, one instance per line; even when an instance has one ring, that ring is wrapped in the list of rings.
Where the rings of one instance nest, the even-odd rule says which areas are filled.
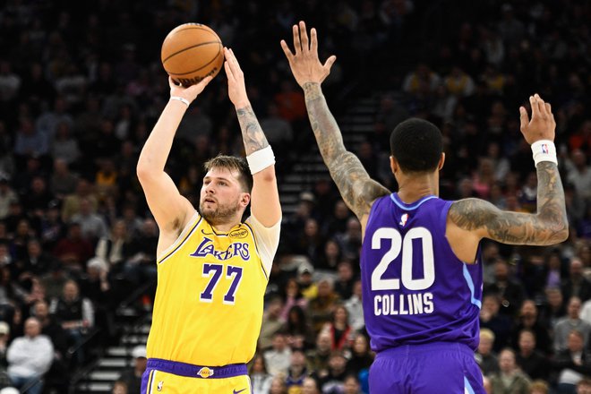
[[[497,209],[478,199],[456,201],[451,205],[449,222],[478,238],[491,238],[504,244],[548,245],[569,236],[569,222],[558,172],[554,129],[556,122],[550,104],[537,94],[529,98],[531,121],[520,107],[521,133],[532,145],[537,170],[537,212],[526,214]]]

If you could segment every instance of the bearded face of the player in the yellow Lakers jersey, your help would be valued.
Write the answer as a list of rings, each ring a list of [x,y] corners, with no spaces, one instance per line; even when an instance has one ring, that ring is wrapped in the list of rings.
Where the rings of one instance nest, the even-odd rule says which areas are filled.
[[[213,225],[227,223],[250,201],[238,181],[238,172],[227,168],[211,168],[203,178],[199,210]]]

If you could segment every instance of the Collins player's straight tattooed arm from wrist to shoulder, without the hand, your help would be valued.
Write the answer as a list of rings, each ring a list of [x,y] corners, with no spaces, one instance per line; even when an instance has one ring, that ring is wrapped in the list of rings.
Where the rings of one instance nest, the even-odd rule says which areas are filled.
[[[343,200],[358,218],[368,214],[372,203],[390,191],[373,181],[353,153],[345,149],[337,121],[330,113],[318,83],[304,83],[305,105],[324,163]]]

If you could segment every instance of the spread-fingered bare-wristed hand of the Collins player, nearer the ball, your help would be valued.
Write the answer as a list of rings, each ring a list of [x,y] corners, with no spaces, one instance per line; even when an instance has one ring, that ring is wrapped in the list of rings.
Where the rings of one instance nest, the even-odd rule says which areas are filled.
[[[337,56],[330,56],[324,64],[321,64],[318,58],[316,29],[310,30],[310,40],[308,40],[304,21],[300,21],[299,25],[294,25],[293,32],[295,55],[287,46],[285,39],[281,40],[281,47],[287,56],[295,81],[302,87],[306,82],[321,83],[329,76],[330,67],[337,60]]]

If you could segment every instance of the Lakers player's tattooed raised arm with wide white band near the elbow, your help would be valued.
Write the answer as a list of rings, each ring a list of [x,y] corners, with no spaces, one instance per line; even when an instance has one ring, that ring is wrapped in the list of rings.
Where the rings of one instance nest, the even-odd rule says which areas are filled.
[[[275,177],[275,157],[246,95],[244,73],[240,69],[236,56],[231,49],[227,48],[224,48],[224,55],[226,56],[224,69],[227,75],[227,93],[236,107],[246,158],[253,173],[251,212],[263,226],[272,227],[281,219],[281,204]]]

